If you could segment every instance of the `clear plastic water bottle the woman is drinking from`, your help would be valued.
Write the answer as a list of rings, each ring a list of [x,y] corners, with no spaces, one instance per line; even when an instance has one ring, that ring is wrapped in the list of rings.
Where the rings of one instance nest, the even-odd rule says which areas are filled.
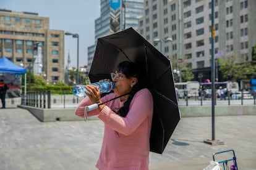
[[[98,87],[101,93],[110,92],[115,87],[115,84],[111,81],[99,81],[90,85]],[[73,87],[73,94],[75,97],[85,97],[85,92],[90,94],[90,92],[88,92],[87,89],[85,89],[85,86],[82,84],[77,84]]]

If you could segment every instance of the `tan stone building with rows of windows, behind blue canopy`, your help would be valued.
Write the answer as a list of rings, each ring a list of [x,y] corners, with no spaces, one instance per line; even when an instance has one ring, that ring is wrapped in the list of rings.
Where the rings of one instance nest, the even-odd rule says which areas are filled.
[[[0,57],[48,83],[64,81],[64,31],[49,30],[49,18],[37,13],[0,9]]]

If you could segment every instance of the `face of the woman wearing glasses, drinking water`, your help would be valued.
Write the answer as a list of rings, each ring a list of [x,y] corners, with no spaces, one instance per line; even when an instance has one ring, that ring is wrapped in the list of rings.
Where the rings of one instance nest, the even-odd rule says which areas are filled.
[[[122,95],[132,91],[132,86],[137,83],[137,78],[127,78],[123,73],[118,76],[116,71],[116,76],[113,78],[113,83],[116,84],[116,87],[113,89],[114,93],[117,95]]]

